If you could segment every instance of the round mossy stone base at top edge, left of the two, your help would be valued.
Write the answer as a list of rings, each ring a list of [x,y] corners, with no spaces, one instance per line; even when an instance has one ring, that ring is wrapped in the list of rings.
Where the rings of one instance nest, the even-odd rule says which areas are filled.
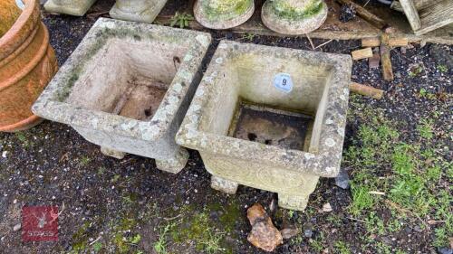
[[[254,11],[254,0],[197,0],[194,5],[198,23],[212,29],[228,29],[243,24]]]

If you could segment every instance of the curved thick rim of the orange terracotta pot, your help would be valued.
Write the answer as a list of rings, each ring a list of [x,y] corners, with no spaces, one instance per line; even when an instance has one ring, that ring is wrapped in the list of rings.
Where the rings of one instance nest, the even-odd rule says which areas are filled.
[[[39,0],[23,0],[25,8],[13,26],[0,38],[0,61],[14,52],[39,24]]]

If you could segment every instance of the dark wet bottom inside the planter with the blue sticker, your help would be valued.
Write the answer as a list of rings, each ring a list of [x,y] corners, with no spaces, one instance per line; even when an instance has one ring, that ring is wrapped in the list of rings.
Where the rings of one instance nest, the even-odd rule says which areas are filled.
[[[301,113],[240,102],[230,135],[285,149],[308,151],[313,118]]]

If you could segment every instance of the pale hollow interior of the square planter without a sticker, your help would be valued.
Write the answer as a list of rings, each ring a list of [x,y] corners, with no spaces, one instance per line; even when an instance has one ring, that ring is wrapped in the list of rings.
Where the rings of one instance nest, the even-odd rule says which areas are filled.
[[[74,85],[66,101],[126,118],[150,120],[188,48],[159,41],[133,43],[112,39],[101,62],[79,77],[83,81]]]

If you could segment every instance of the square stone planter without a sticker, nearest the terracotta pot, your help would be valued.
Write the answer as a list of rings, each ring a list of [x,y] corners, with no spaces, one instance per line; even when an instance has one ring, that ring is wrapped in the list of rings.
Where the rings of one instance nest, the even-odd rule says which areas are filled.
[[[106,155],[155,158],[178,173],[188,152],[175,135],[210,41],[208,33],[101,18],[33,111],[71,125]]]

